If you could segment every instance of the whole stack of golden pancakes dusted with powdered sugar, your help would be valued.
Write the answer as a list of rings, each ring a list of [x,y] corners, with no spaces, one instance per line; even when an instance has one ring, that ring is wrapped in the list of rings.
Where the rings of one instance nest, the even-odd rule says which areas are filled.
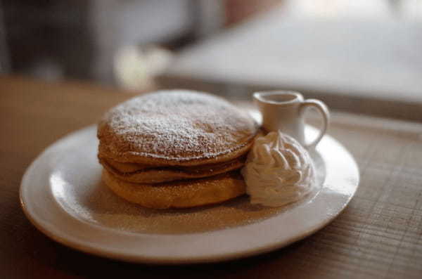
[[[158,91],[117,105],[98,124],[103,181],[144,207],[196,207],[245,193],[239,169],[259,128],[222,98]]]

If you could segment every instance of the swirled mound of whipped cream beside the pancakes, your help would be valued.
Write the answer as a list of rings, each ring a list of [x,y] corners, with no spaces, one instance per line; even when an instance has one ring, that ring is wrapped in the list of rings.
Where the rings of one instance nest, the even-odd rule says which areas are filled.
[[[300,200],[315,184],[309,153],[281,131],[255,140],[241,173],[250,202],[269,207]]]

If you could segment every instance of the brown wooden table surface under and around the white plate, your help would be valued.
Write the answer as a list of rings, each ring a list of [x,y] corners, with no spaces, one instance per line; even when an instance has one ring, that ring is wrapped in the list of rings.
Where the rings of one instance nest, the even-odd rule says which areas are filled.
[[[25,169],[44,148],[132,95],[20,77],[0,77],[0,92],[1,278],[422,278],[422,124],[333,113],[328,134],[354,155],[361,183],[332,223],[257,257],[147,266],[53,242],[25,218],[18,197]]]

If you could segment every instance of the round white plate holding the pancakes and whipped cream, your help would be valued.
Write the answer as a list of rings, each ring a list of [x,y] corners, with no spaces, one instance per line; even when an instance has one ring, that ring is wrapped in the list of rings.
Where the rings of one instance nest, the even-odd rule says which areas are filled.
[[[305,200],[275,209],[252,206],[248,197],[197,209],[144,209],[103,186],[97,145],[94,126],[51,145],[23,176],[20,200],[53,240],[123,261],[198,263],[269,252],[326,226],[359,184],[352,156],[324,136],[312,154],[318,187]]]

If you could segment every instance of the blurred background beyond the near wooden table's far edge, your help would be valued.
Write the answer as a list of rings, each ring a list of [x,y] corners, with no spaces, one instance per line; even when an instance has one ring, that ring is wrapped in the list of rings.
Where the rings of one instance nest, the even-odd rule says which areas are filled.
[[[183,87],[236,100],[293,89],[340,110],[422,121],[419,0],[0,5],[1,74],[128,91]]]

